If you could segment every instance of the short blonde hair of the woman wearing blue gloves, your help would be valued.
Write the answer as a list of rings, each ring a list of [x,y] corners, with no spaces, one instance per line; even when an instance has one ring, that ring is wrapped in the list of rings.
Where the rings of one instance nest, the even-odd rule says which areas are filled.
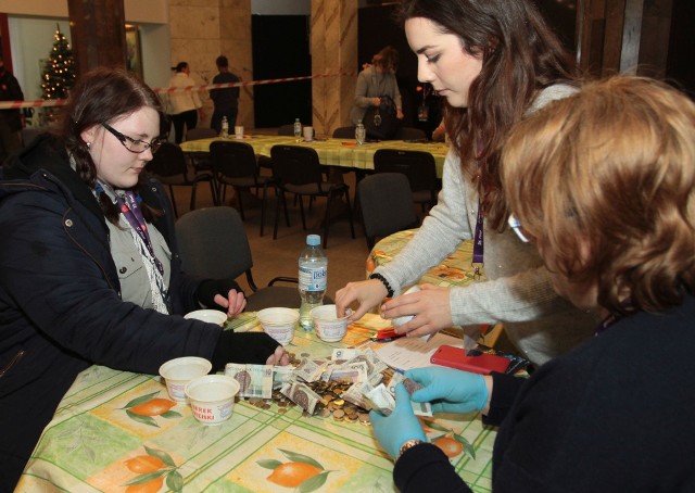
[[[560,274],[597,285],[599,305],[659,312],[695,292],[695,104],[684,94],[641,77],[586,84],[515,126],[502,162],[511,211]]]

